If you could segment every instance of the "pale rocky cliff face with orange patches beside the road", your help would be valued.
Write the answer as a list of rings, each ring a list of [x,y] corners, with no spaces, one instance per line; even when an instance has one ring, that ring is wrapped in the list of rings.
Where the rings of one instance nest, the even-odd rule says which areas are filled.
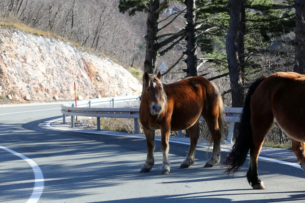
[[[56,38],[0,27],[0,95],[54,101],[141,94],[142,85],[108,58]]]

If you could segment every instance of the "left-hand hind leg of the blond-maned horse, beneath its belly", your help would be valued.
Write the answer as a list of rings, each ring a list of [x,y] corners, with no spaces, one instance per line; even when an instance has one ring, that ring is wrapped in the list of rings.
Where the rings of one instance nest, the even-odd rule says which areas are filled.
[[[186,155],[184,161],[181,162],[181,165],[179,168],[188,168],[189,166],[194,164],[195,150],[196,150],[196,145],[197,145],[197,141],[199,138],[197,123],[198,123],[198,121],[193,126],[188,128],[191,144],[188,149],[188,154]]]

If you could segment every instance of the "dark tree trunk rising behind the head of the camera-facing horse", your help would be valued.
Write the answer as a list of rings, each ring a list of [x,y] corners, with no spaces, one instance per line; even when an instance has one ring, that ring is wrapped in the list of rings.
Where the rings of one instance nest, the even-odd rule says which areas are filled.
[[[144,73],[147,71],[149,74],[156,74],[157,72],[157,60],[158,60],[158,19],[159,12],[156,10],[159,8],[160,0],[150,0],[149,10],[147,14],[147,35],[146,40],[146,54],[144,61]],[[143,75],[143,90],[145,85],[145,79]],[[142,90],[142,94],[143,94]],[[141,95],[142,98],[142,95]]]

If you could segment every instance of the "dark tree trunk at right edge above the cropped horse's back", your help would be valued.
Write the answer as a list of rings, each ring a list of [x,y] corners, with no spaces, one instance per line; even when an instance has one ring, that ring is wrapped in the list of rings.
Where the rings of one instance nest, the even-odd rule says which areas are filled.
[[[296,55],[293,71],[305,74],[305,1],[296,0]]]

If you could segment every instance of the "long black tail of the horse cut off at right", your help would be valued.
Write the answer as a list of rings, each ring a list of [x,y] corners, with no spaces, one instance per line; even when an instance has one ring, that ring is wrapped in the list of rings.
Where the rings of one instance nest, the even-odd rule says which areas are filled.
[[[253,92],[256,90],[256,88],[260,85],[260,83],[265,80],[265,78],[266,77],[260,77],[253,84],[251,84],[248,93],[245,97],[245,103],[240,117],[239,134],[233,145],[232,151],[229,153],[227,159],[224,161],[222,166],[222,167],[227,167],[224,173],[228,173],[228,175],[230,174],[231,170],[233,170],[233,175],[234,175],[234,173],[242,167],[243,163],[246,161],[248,151],[250,147],[253,145],[252,126],[250,123],[251,96]]]

